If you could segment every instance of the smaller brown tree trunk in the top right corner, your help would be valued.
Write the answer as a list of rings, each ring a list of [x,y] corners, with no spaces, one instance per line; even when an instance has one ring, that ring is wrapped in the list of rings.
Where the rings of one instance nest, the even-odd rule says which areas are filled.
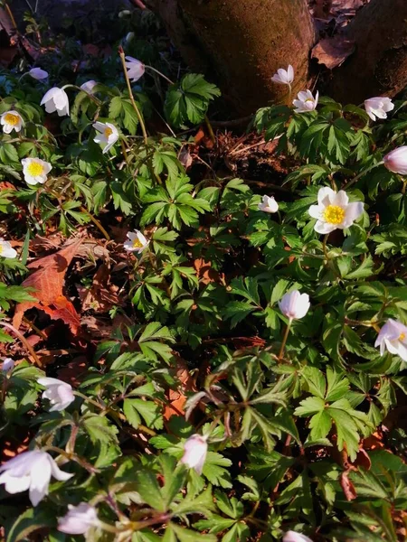
[[[327,94],[359,104],[407,84],[407,0],[371,0],[346,27],[356,51],[334,70]]]

